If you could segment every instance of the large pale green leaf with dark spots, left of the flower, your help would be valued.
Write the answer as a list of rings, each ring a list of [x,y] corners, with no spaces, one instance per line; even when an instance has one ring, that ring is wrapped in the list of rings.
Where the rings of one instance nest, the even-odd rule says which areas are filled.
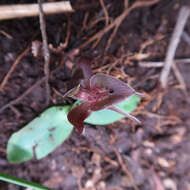
[[[14,133],[7,145],[8,161],[41,159],[62,144],[73,130],[67,120],[69,110],[70,106],[51,107]]]

